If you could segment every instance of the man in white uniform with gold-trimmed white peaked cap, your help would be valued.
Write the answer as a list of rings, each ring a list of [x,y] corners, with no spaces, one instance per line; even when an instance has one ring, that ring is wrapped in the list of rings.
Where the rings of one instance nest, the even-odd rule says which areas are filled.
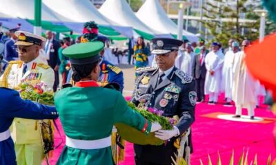
[[[55,81],[54,71],[39,58],[41,45],[46,39],[23,31],[17,31],[15,35],[18,41],[14,45],[17,45],[20,61],[10,61],[0,78],[0,87],[14,88],[22,82],[35,79],[41,80],[48,89],[52,89]],[[42,162],[43,146],[37,124],[37,120],[14,119],[11,132],[18,165]]]

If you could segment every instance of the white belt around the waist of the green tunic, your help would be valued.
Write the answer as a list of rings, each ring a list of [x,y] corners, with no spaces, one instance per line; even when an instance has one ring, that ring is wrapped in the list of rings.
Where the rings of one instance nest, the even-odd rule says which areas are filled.
[[[111,135],[99,140],[75,140],[66,136],[66,146],[77,149],[100,149],[111,146]]]

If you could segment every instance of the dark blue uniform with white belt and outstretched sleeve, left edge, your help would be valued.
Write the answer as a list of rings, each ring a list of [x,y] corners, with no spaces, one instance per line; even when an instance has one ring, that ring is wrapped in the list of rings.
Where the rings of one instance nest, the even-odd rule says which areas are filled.
[[[55,107],[22,100],[17,91],[0,88],[0,164],[16,165],[9,127],[14,118],[57,119]],[[19,163],[19,162],[18,162]]]

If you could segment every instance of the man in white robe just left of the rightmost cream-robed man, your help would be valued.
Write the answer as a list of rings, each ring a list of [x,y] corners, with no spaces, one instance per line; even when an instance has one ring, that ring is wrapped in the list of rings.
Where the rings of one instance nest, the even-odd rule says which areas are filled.
[[[232,49],[228,50],[224,56],[224,66],[222,67],[221,89],[224,91],[226,103],[230,104],[233,85],[233,63],[235,53],[239,52],[239,43],[233,42]]]

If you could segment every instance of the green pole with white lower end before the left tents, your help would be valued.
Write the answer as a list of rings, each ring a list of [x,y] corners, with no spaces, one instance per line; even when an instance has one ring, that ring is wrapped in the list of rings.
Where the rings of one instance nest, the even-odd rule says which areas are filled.
[[[34,0],[34,34],[41,36],[41,0]]]

